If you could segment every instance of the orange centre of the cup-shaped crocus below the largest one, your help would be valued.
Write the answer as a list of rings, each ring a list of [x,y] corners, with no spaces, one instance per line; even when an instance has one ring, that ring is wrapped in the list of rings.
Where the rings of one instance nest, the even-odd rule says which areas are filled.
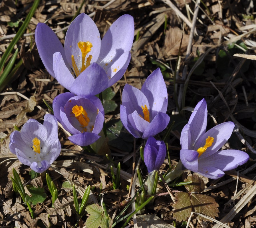
[[[89,130],[89,131],[93,130],[94,126],[92,124],[89,125],[90,119],[87,115],[87,112],[84,110],[84,108],[82,106],[75,105],[72,108],[72,113],[75,114],[76,119],[82,125],[82,128],[83,128],[82,133],[86,132],[87,130]],[[87,127],[88,127],[88,129],[87,129]]]

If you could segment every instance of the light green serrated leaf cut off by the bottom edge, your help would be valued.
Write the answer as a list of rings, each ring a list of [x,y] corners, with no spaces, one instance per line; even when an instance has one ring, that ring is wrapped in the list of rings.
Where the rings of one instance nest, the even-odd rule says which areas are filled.
[[[90,216],[86,219],[85,225],[88,228],[108,228],[104,210],[98,204],[92,204],[85,208]]]

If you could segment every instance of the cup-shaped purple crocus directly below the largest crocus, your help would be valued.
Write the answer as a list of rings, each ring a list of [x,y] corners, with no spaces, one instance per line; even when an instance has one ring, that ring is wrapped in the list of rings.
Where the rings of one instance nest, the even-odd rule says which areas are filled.
[[[99,139],[104,122],[104,109],[98,97],[61,93],[53,100],[53,112],[68,139],[79,146],[88,146]]]

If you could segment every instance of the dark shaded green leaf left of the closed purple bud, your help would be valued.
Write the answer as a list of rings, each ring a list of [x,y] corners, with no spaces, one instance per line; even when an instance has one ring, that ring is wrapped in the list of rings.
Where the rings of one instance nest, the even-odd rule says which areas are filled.
[[[106,123],[108,144],[120,150],[131,151],[133,148],[133,136],[127,133],[121,120],[110,120]]]

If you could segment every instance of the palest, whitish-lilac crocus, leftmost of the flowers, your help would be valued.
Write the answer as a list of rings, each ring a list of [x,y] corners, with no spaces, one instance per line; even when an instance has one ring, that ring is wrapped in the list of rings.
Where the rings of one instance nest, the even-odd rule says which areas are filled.
[[[11,133],[9,148],[22,164],[37,173],[44,172],[61,152],[56,118],[45,114],[44,124],[29,119],[21,131]]]

